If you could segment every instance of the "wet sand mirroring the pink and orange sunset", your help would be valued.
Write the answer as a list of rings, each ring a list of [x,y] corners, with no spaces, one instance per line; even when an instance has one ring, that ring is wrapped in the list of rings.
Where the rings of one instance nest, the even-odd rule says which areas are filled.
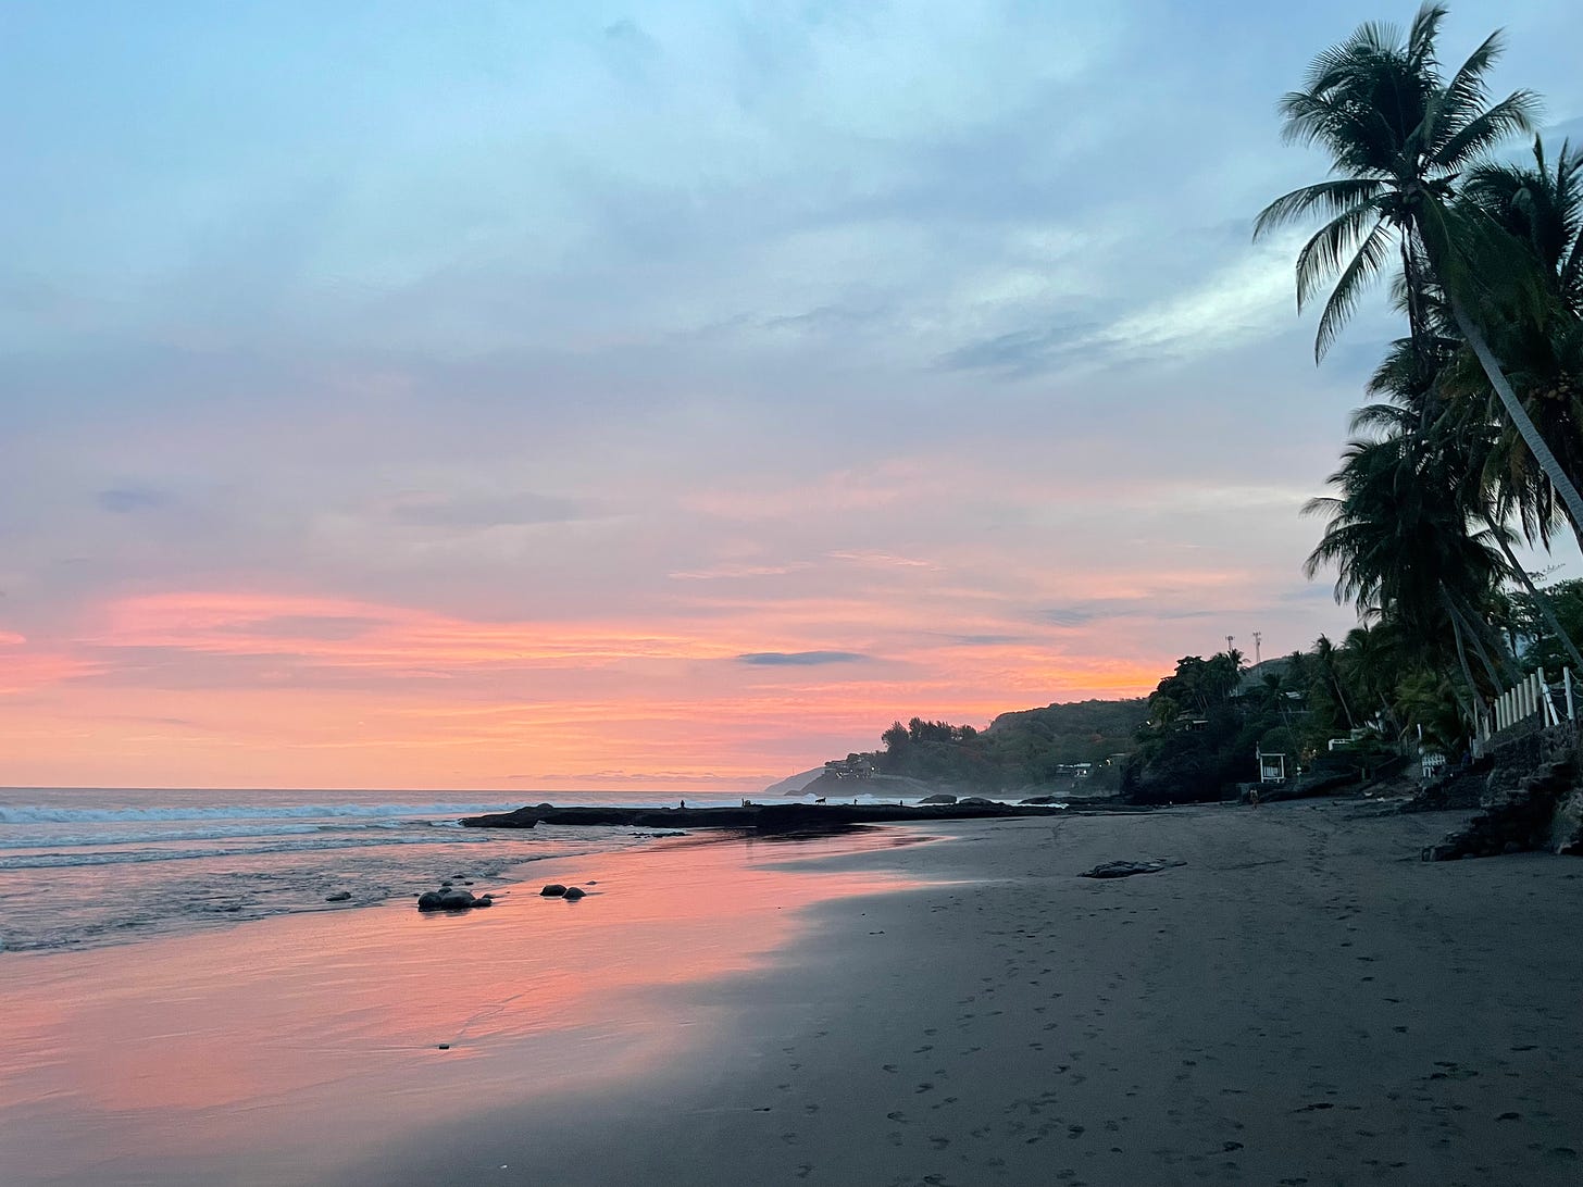
[[[915,840],[662,840],[478,883],[489,910],[0,956],[0,1181],[296,1181],[418,1122],[636,1075],[723,1021],[678,989],[763,967],[801,907],[915,885],[807,859]]]

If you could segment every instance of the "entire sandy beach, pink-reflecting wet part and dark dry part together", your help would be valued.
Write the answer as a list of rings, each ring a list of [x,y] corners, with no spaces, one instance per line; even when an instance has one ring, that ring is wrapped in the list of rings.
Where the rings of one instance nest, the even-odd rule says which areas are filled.
[[[1377,812],[671,842],[535,866],[579,904],[11,956],[0,1178],[1575,1184],[1583,867]]]

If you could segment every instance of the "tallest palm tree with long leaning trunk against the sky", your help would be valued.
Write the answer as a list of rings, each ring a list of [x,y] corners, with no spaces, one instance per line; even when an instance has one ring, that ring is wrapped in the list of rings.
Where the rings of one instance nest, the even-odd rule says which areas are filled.
[[[1482,323],[1471,315],[1485,282],[1469,260],[1469,244],[1488,228],[1475,209],[1452,204],[1458,177],[1509,135],[1529,130],[1537,101],[1526,90],[1488,101],[1485,76],[1501,54],[1499,33],[1485,38],[1445,79],[1436,59],[1444,19],[1442,5],[1426,3],[1406,40],[1390,25],[1369,22],[1314,59],[1304,89],[1281,100],[1284,136],[1325,147],[1339,176],[1276,198],[1254,223],[1254,237],[1312,214],[1328,218],[1296,258],[1300,309],[1336,277],[1319,318],[1317,359],[1395,248],[1415,350],[1428,329],[1422,294],[1434,285],[1569,518],[1583,525],[1583,497],[1523,410]]]

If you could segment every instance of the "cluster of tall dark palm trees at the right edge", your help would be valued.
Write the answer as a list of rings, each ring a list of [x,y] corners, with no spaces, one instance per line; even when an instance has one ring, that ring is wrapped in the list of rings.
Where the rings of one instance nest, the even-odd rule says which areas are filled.
[[[1524,668],[1583,668],[1583,624],[1553,605],[1577,589],[1547,595],[1513,552],[1583,540],[1583,154],[1536,136],[1531,165],[1491,158],[1532,133],[1537,98],[1491,101],[1499,33],[1445,71],[1444,16],[1366,24],[1314,60],[1281,111],[1333,176],[1271,203],[1255,236],[1323,218],[1296,260],[1300,305],[1333,280],[1319,358],[1363,286],[1391,282],[1406,336],[1368,385],[1334,494],[1306,508],[1327,521],[1308,571],[1333,568],[1366,624],[1353,715],[1455,753]]]

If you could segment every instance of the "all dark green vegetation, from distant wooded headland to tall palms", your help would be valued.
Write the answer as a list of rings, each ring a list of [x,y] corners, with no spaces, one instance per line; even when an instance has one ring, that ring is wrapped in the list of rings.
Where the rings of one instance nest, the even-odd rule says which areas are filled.
[[[1281,112],[1331,176],[1254,228],[1320,220],[1296,258],[1298,307],[1330,288],[1317,359],[1372,282],[1404,320],[1333,494],[1304,508],[1325,521],[1308,575],[1333,570],[1360,625],[1254,671],[1235,650],[1184,657],[1146,704],[1050,706],[985,733],[898,722],[853,769],[1000,790],[1130,752],[1108,768],[1126,798],[1213,799],[1258,777],[1258,752],[1309,785],[1420,747],[1460,758],[1526,671],[1583,674],[1583,581],[1540,589],[1515,554],[1583,544],[1583,150],[1534,135],[1531,92],[1490,97],[1499,33],[1442,68],[1444,17],[1431,3],[1406,32],[1365,24],[1314,59]],[[1528,160],[1491,155],[1513,136],[1532,136]]]

